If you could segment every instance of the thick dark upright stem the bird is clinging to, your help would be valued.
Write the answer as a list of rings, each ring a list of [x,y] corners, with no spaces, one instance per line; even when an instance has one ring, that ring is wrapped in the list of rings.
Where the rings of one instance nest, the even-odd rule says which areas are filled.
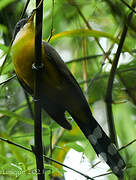
[[[36,7],[41,3],[36,0]],[[43,145],[42,145],[42,122],[41,122],[41,104],[40,104],[40,86],[42,72],[42,19],[43,19],[43,2],[36,10],[36,26],[35,26],[35,64],[33,69],[35,72],[34,82],[34,153],[36,156],[38,180],[44,180],[44,163],[43,163]]]

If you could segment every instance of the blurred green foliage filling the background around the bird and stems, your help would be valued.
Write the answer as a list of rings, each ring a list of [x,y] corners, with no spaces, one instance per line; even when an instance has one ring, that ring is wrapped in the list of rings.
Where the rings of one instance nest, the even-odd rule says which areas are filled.
[[[131,6],[129,0],[125,2]],[[0,65],[8,52],[13,26],[23,7],[23,0],[0,1]],[[31,1],[28,13],[33,8],[34,1]],[[44,0],[43,38],[47,40],[50,35],[53,16],[53,36],[50,43],[57,49],[64,61],[73,60],[68,63],[68,67],[80,83],[90,108],[101,120],[102,126],[107,123],[105,108],[98,107],[96,104],[105,100],[110,69],[120,43],[124,24],[128,24],[127,17],[130,12],[131,10],[121,0],[59,0],[55,1],[52,12],[52,1]],[[6,15],[2,16],[2,14]],[[14,14],[12,18],[11,14]],[[136,138],[135,19],[134,13],[125,36],[112,91],[112,108],[119,147]],[[86,58],[74,61],[81,57]],[[25,93],[16,78],[2,83],[13,75],[14,69],[9,56],[0,76],[0,137],[31,148],[33,120]],[[30,102],[33,106],[31,97]],[[72,131],[60,128],[43,112],[45,155],[63,163],[72,148],[82,152],[88,158],[91,167],[96,155],[70,115],[67,113],[66,116],[72,123]],[[136,177],[135,150],[136,144],[133,143],[120,151],[127,164],[125,180],[134,180]],[[35,158],[32,153],[0,142],[0,179],[33,179],[37,173],[35,168]],[[64,169],[56,163],[46,161],[45,170],[46,179],[51,179],[51,175],[62,178],[64,176]],[[116,179],[114,175],[107,175],[106,178]]]

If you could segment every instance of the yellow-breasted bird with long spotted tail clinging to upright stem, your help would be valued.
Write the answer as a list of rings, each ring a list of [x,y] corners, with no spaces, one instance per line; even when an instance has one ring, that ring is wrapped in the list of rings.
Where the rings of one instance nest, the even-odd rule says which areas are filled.
[[[21,86],[34,95],[35,28],[34,15],[21,19],[15,27],[11,58]],[[67,111],[75,120],[97,155],[117,177],[123,177],[125,161],[116,146],[93,117],[89,104],[72,73],[58,54],[42,40],[41,61],[44,67],[40,76],[40,105],[61,127],[71,130]]]

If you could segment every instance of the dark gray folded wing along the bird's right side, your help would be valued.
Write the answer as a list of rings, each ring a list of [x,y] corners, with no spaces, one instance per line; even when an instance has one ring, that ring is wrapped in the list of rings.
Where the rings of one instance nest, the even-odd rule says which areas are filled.
[[[91,114],[91,112],[79,84],[56,50],[47,42],[43,42],[43,44],[48,59],[60,74],[65,87],[61,92],[61,96],[59,96],[60,102],[74,118],[86,119],[87,114]],[[81,115],[81,113],[79,115],[79,112],[82,112],[82,117],[78,117]]]

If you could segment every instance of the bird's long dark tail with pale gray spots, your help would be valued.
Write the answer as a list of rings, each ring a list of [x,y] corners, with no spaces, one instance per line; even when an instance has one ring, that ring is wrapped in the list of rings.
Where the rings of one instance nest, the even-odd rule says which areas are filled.
[[[97,155],[102,156],[104,161],[109,165],[114,174],[123,177],[125,162],[117,151],[115,145],[103,131],[97,121],[91,116],[88,124],[77,121],[78,126],[83,131]]]

